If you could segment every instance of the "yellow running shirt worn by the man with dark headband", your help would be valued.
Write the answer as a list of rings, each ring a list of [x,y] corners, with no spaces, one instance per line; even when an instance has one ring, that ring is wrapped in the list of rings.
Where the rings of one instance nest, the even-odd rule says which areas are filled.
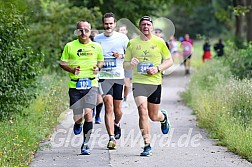
[[[133,69],[132,83],[142,83],[160,85],[162,74],[158,72],[154,75],[145,74],[147,66],[158,66],[162,60],[171,57],[165,41],[157,36],[152,36],[150,40],[143,41],[140,36],[131,39],[128,43],[124,61],[130,62],[132,58],[137,58],[139,64]]]

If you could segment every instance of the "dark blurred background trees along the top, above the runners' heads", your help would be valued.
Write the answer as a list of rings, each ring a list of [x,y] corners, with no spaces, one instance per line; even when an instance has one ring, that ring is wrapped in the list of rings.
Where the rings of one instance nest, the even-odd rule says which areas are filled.
[[[168,17],[175,24],[176,36],[189,33],[192,37],[195,37],[196,34],[218,36],[224,32],[226,24],[223,24],[223,20],[219,21],[215,14],[220,9],[227,8],[230,3],[229,0],[224,2],[217,2],[217,0],[195,0],[193,2],[151,0],[148,3],[145,0],[131,0],[127,2],[127,7],[125,7],[125,1],[121,0],[73,0],[71,2],[74,6],[88,8],[99,6],[103,14],[113,12],[117,19],[127,18],[135,25],[143,15],[150,15],[153,18]],[[220,17],[220,14],[218,16]]]

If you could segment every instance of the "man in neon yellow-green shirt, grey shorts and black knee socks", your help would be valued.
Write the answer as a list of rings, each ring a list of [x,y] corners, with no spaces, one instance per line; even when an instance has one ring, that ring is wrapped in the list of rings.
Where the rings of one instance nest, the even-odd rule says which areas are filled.
[[[65,45],[60,67],[69,72],[70,108],[74,114],[74,134],[83,129],[83,144],[81,154],[89,155],[88,142],[93,129],[92,109],[96,106],[98,93],[97,74],[103,66],[103,52],[100,44],[89,39],[91,25],[86,20],[77,23],[75,34],[77,40]],[[84,115],[83,115],[84,111]],[[83,120],[85,122],[83,124]]]

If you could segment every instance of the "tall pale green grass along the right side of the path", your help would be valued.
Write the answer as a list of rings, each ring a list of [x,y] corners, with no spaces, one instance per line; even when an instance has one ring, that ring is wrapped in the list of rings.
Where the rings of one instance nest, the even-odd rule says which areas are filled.
[[[191,77],[184,101],[198,125],[218,144],[252,161],[252,79],[237,80],[220,60],[204,64]]]

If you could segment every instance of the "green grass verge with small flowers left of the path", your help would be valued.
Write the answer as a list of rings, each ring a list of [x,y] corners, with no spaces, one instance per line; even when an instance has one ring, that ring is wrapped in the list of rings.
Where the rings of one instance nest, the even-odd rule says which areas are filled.
[[[65,78],[44,76],[38,93],[29,108],[0,122],[0,166],[28,166],[39,143],[51,134],[59,114],[67,108]]]

